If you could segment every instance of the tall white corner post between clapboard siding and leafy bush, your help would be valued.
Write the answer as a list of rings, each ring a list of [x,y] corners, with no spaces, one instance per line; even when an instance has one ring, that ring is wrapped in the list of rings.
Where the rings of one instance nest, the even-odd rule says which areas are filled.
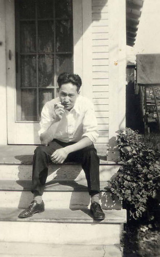
[[[126,4],[108,0],[109,7],[109,150],[107,160],[120,160],[118,130],[125,130]]]

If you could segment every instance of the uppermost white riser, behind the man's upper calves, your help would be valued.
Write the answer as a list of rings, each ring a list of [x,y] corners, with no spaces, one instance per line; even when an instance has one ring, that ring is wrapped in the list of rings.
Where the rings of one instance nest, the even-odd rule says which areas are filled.
[[[100,165],[100,181],[108,181],[119,170],[119,165]],[[31,180],[32,164],[0,164],[1,180]],[[86,185],[84,171],[80,164],[50,165],[47,182],[58,180],[75,180]]]

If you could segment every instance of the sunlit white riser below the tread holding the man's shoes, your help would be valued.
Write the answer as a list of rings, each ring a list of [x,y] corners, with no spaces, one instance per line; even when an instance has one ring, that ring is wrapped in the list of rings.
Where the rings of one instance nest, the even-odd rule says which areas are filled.
[[[119,244],[121,224],[1,222],[0,241],[52,244]]]

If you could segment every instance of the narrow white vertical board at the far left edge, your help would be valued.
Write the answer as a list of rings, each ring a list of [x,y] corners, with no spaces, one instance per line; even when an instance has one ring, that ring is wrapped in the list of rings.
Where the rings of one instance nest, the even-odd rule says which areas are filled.
[[[7,144],[7,82],[6,82],[6,31],[5,31],[5,0],[0,0],[0,96],[1,96],[1,126],[0,144]]]

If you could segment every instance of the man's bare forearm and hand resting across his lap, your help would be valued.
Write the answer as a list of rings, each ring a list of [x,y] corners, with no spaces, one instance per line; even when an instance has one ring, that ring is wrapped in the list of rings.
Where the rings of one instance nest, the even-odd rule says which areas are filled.
[[[68,146],[65,146],[64,148],[56,150],[52,154],[52,161],[54,163],[63,163],[63,161],[68,156],[68,154],[81,150],[91,144],[93,144],[93,142],[88,137],[83,137],[77,143],[74,143],[72,145],[68,145]]]

